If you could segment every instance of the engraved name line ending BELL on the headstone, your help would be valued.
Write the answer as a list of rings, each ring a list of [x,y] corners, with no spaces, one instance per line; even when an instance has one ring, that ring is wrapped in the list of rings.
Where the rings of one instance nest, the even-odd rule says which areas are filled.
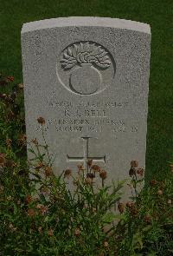
[[[65,116],[78,116],[78,117],[107,117],[105,109],[76,109],[71,112],[69,109],[65,109]]]

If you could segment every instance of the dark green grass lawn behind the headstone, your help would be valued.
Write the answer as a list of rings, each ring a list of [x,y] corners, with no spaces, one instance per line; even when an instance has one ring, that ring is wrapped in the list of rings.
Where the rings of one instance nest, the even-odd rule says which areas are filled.
[[[0,70],[22,82],[22,23],[59,16],[110,16],[151,25],[146,169],[162,177],[173,160],[171,0],[0,0]]]

